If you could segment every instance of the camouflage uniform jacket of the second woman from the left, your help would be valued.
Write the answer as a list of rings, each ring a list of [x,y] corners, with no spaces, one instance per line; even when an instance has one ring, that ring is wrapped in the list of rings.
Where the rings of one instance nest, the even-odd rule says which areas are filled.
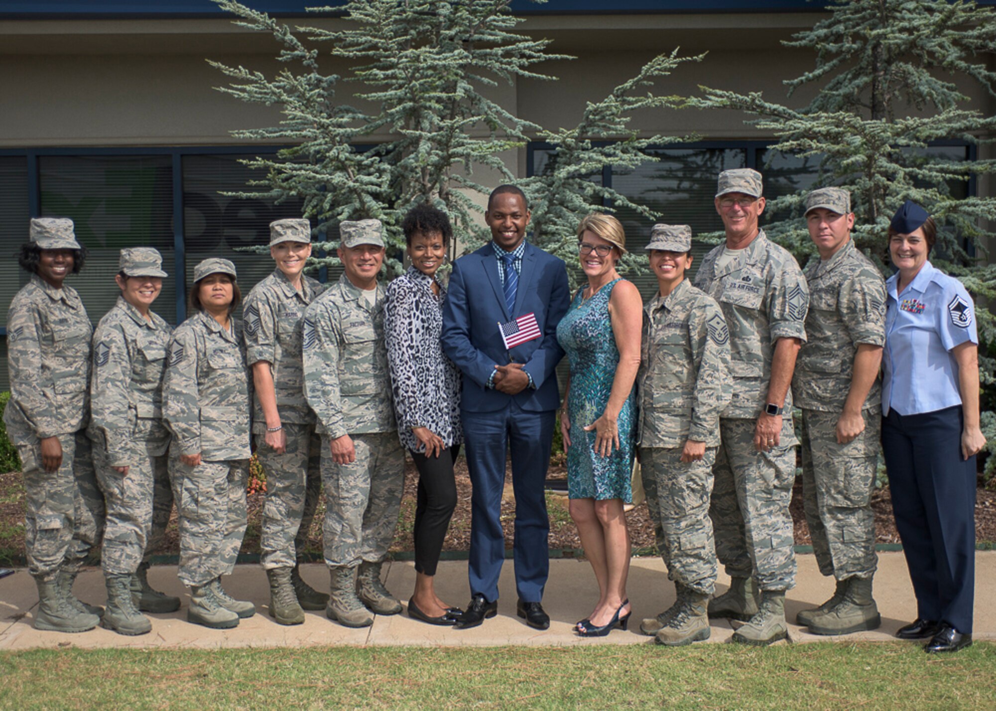
[[[113,467],[164,454],[169,445],[162,424],[162,375],[172,328],[159,316],[148,316],[145,321],[118,297],[94,333],[90,435],[104,441]]]

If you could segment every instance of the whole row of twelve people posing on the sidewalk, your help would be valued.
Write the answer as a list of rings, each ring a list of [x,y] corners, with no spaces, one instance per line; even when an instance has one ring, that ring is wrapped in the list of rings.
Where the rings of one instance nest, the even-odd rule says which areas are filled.
[[[806,517],[820,570],[837,583],[799,623],[819,634],[880,623],[871,491],[882,443],[918,602],[917,620],[899,636],[929,638],[928,651],[970,643],[974,455],[985,443],[972,301],[926,260],[936,228],[913,203],[892,219],[898,272],[887,283],[851,240],[846,191],[807,197],[819,258],[805,272],[760,229],[764,206],[760,173],[720,174],[715,209],[726,241],[694,285],[691,229],[654,225],[646,250],[658,292],[645,305],[617,271],[626,248],[616,218],[593,214],[579,225],[588,284],[572,296],[564,262],[526,240],[531,215],[513,185],[489,196],[491,241],[456,260],[447,285],[437,272],[452,229],[433,207],[405,217],[410,267],[386,289],[377,281],[378,221],[341,224],[345,272],[325,288],[303,274],[309,222],[278,220],[277,268],[246,298],[242,320],[234,265],[207,259],[194,269],[196,313],[172,333],[150,311],[166,276],[154,249],[122,250],[121,297],[94,332],[63,284],[86,257],[72,222],[32,220],[20,256],[31,281],[7,322],[4,421],[24,465],[36,626],[83,631],[103,617],[106,627],[140,634],[151,628],[142,612],[177,609],[180,600],[153,590],[146,575],[174,502],[188,620],[226,628],[252,615],[254,605],[221,578],[245,533],[253,450],[267,473],[270,615],[296,624],[305,609],[325,609],[359,627],[400,612],[380,568],[407,450],[419,475],[408,615],[461,629],[497,613],[510,453],[517,614],[546,629],[544,487],[562,405],[555,368],[566,354],[559,419],[570,513],[600,590],[578,634],[625,628],[631,614],[624,506],[636,458],[676,590],[640,631],[687,644],[708,638],[708,618],[719,616],[737,620],[736,641],[787,635],[795,404]],[[465,609],[432,584],[461,446],[473,485]],[[328,594],[298,568],[323,490]],[[103,609],[72,592],[102,538]],[[717,562],[732,583],[713,596]]]

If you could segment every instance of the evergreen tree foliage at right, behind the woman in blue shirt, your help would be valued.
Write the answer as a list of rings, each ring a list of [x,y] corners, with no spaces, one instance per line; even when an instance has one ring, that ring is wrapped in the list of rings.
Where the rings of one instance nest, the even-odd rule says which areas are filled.
[[[755,117],[748,123],[778,139],[770,154],[818,159],[814,187],[851,191],[856,244],[885,275],[891,273],[885,268],[891,215],[906,199],[923,205],[938,224],[931,262],[960,279],[976,301],[980,373],[996,402],[996,359],[987,355],[996,344],[996,319],[985,308],[996,303],[996,265],[982,263],[985,239],[996,237],[987,226],[996,220],[996,198],[959,198],[952,190],[996,173],[996,161],[957,161],[928,150],[939,141],[980,145],[996,135],[996,118],[968,107],[953,81],[967,77],[996,96],[996,73],[985,57],[996,47],[996,11],[961,0],[833,0],[828,10],[828,18],[785,43],[816,51],[816,67],[785,82],[790,95],[819,85],[807,107],[707,87],[688,104],[742,111]],[[815,252],[802,220],[805,194],[769,202],[775,220],[765,227],[800,263]],[[983,413],[983,431],[996,453],[994,413]],[[996,473],[996,456],[989,457],[987,473]]]

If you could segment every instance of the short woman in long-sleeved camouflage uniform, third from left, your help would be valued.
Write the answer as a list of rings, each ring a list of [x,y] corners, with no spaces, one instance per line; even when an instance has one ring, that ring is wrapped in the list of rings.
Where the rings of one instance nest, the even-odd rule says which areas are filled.
[[[223,290],[214,275],[230,276],[234,291],[235,266],[205,259],[194,268],[192,295]],[[208,291],[212,298],[215,293]],[[179,514],[179,579],[190,587],[187,620],[229,628],[255,613],[252,602],[221,587],[246,531],[252,393],[239,324],[229,318],[225,328],[212,316],[221,301],[197,301],[202,310],[176,327],[169,342],[162,412],[173,434],[169,477]],[[237,306],[234,300],[223,305],[229,314]]]

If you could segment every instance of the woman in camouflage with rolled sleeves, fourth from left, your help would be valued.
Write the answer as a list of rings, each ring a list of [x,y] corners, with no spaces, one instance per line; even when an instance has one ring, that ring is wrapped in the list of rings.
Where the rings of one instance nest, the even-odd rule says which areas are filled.
[[[298,570],[322,487],[322,443],[305,400],[301,323],[305,308],[325,287],[301,273],[311,255],[308,220],[270,223],[270,254],[277,269],[253,287],[242,312],[256,393],[253,434],[266,471],[260,548],[270,581],[270,616],[281,624],[301,624],[305,609],[325,609],[329,601]]]

